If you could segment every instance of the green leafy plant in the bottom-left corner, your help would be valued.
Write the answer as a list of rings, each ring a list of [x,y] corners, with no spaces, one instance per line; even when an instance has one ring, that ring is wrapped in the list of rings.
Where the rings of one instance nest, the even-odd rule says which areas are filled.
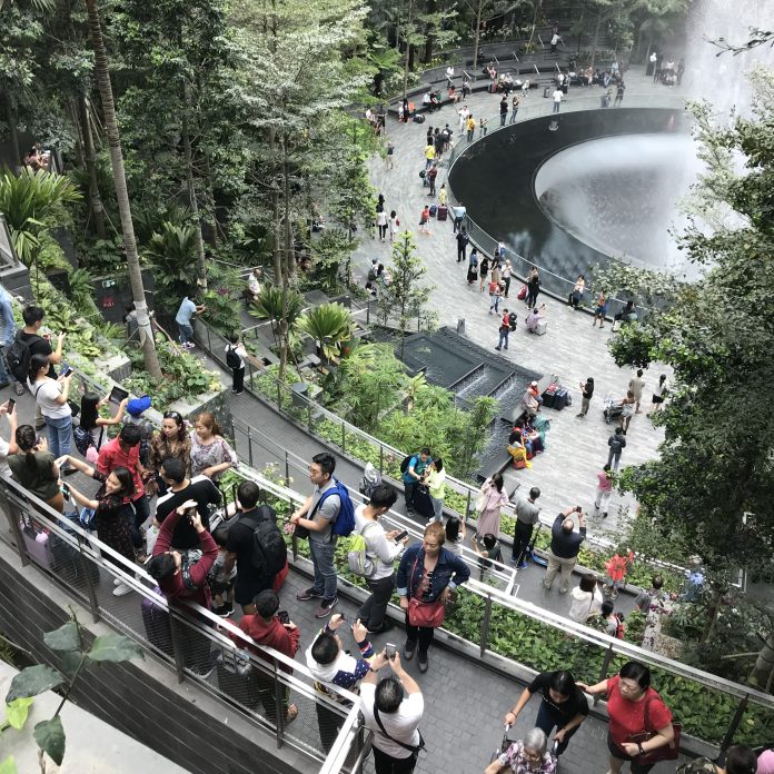
[[[61,654],[62,672],[46,664],[28,666],[19,672],[11,681],[6,696],[7,720],[0,730],[22,728],[27,722],[32,697],[52,688],[61,688],[62,701],[53,716],[37,723],[33,731],[38,747],[60,766],[64,758],[66,736],[59,713],[81,672],[95,664],[119,663],[131,658],[143,658],[145,655],[139,645],[129,637],[115,633],[96,637],[89,646],[75,613],[71,614],[70,621],[58,629],[47,632],[43,635],[43,642],[51,651]],[[9,758],[6,758],[0,766],[3,766],[3,774],[6,772],[16,774],[17,770],[12,760],[9,763]],[[43,774],[46,772],[42,758],[41,772]]]

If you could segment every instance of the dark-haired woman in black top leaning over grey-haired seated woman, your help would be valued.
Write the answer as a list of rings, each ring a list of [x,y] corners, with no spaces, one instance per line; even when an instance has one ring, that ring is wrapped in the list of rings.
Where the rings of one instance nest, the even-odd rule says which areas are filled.
[[[550,736],[552,731],[557,728],[554,742],[559,743],[556,750],[557,756],[562,755],[567,750],[569,740],[588,717],[588,702],[569,672],[542,672],[538,674],[524,688],[514,708],[505,713],[503,723],[514,725],[527,702],[538,692],[542,695],[542,701],[535,725],[546,736]]]

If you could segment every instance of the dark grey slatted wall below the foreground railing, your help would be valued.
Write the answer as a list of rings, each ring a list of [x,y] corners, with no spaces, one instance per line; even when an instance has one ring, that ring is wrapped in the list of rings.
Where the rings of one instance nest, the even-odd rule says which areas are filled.
[[[0,631],[6,636],[38,662],[57,667],[59,656],[46,647],[42,635],[64,623],[70,606],[95,636],[111,631],[92,624],[90,614],[36,567],[21,567],[18,555],[0,540]],[[194,684],[178,684],[175,674],[150,656],[88,671],[71,698],[196,774],[292,774],[319,768],[289,747],[277,750],[272,735]]]

